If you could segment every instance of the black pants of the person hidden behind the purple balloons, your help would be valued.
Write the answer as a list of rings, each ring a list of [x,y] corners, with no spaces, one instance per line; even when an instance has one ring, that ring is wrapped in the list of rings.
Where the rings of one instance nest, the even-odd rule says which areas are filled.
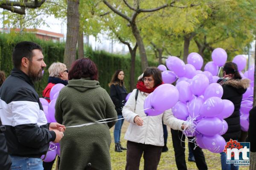
[[[185,142],[180,142],[180,139],[182,141],[185,141],[185,135],[182,136],[182,132],[179,130],[173,130],[171,129],[172,133],[172,144],[174,147],[175,152],[175,161],[178,170],[187,170],[186,167],[186,161],[185,161]],[[182,138],[181,138],[182,137]],[[188,137],[189,139],[192,139],[192,137]],[[204,158],[204,152],[200,147],[195,147],[195,144],[192,142],[189,142],[190,147],[192,148],[192,152],[195,157],[195,163],[198,167],[198,170],[207,170],[207,164],[205,162]]]

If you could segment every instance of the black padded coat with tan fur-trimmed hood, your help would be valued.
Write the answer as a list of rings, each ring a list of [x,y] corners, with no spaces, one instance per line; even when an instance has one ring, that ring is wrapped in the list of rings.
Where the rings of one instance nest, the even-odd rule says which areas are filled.
[[[227,132],[222,135],[226,142],[230,139],[238,140],[241,135],[240,127],[240,106],[243,94],[250,85],[249,79],[230,79],[222,85],[223,95],[221,99],[228,99],[233,102],[235,110],[231,116],[224,119],[227,122]]]

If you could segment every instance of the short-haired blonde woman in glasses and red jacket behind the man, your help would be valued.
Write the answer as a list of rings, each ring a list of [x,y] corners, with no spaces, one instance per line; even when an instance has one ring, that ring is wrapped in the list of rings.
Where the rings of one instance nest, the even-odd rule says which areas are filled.
[[[48,85],[43,91],[43,98],[50,102],[50,91],[55,84],[61,83],[67,85],[68,71],[66,65],[61,62],[53,62],[48,68]],[[60,159],[58,159],[59,161]],[[55,159],[51,162],[43,162],[44,170],[51,170]],[[59,162],[58,162],[59,165]]]

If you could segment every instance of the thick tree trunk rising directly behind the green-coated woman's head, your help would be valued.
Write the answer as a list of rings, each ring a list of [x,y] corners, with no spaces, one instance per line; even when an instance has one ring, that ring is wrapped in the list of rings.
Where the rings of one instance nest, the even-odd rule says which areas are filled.
[[[67,0],[67,38],[64,64],[70,68],[76,59],[76,43],[79,32],[79,0]]]

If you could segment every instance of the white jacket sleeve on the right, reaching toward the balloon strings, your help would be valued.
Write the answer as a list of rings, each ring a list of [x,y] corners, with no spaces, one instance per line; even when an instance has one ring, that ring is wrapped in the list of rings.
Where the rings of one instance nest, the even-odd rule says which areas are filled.
[[[172,114],[172,109],[163,112],[163,124],[170,126],[173,130],[181,130],[184,120],[177,119]]]

